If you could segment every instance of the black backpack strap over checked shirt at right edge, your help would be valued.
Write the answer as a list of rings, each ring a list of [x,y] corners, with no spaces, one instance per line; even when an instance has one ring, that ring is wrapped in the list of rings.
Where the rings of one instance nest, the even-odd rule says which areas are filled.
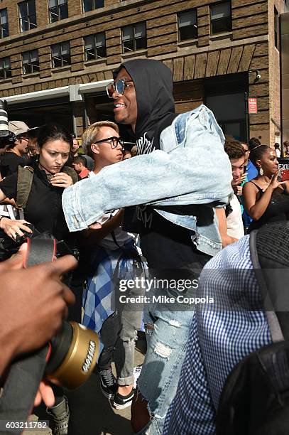
[[[289,340],[289,222],[252,231],[250,252],[272,340]]]

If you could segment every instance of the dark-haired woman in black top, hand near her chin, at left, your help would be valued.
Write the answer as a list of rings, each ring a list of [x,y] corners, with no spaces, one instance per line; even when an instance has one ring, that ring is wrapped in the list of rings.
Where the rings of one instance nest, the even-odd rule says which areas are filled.
[[[38,160],[33,163],[33,179],[28,195],[24,219],[0,218],[0,228],[15,239],[23,235],[22,230],[31,232],[25,224],[32,223],[39,232],[49,232],[58,240],[69,239],[62,212],[62,192],[74,181],[77,174],[72,168],[63,169],[72,147],[72,136],[58,124],[45,124],[38,131]],[[71,176],[70,176],[71,175]],[[0,200],[17,197],[18,173],[13,173],[0,183]]]

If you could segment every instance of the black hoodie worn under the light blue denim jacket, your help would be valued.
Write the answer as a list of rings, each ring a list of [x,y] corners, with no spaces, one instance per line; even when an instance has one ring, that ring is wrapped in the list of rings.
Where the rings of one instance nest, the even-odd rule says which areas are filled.
[[[173,76],[159,60],[136,59],[121,64],[114,71],[114,80],[121,68],[129,73],[136,89],[138,154],[148,154],[160,149],[160,133],[177,116]],[[141,249],[153,269],[182,268],[193,262],[205,264],[209,258],[197,251],[189,230],[165,220],[150,206],[126,208],[124,220],[126,230],[141,234]]]

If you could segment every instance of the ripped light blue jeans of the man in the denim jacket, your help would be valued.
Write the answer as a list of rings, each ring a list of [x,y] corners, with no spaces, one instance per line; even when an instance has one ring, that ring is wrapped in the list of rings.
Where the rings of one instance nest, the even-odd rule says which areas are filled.
[[[175,295],[182,293],[175,291]],[[151,290],[152,296],[172,296],[168,291]],[[193,296],[189,289],[186,296]],[[177,311],[175,311],[177,309]],[[178,311],[179,310],[179,311]],[[138,378],[138,390],[148,401],[150,423],[139,434],[163,433],[165,415],[175,397],[182,361],[185,358],[190,323],[195,309],[187,304],[155,301],[146,306],[144,323],[148,349]]]

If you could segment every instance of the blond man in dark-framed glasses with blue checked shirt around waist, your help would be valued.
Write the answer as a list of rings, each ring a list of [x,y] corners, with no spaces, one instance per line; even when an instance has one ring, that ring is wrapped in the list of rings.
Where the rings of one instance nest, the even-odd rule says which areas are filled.
[[[124,146],[114,122],[94,122],[84,131],[82,146],[84,152],[94,159],[94,169],[89,178],[123,160]],[[121,186],[116,185],[115,188],[119,195]],[[129,302],[119,303],[119,291],[124,291],[119,286],[121,281],[126,281],[128,277],[134,279],[143,272],[134,237],[121,228],[123,212],[121,209],[107,211],[98,220],[102,228],[86,232],[87,245],[92,245],[92,250],[82,321],[84,326],[94,329],[101,337],[104,348],[98,360],[100,387],[115,409],[131,406],[134,395],[134,345],[142,317],[141,304],[131,306]],[[126,289],[126,296],[142,294],[143,289]],[[117,379],[111,370],[112,358]]]

